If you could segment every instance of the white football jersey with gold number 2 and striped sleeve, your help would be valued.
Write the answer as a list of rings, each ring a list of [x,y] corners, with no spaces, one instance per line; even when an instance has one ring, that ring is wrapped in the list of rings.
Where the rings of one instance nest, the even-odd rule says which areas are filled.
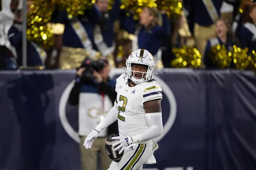
[[[118,126],[122,136],[134,136],[149,128],[143,103],[162,99],[162,88],[154,81],[129,87],[128,77],[122,74],[116,79]]]

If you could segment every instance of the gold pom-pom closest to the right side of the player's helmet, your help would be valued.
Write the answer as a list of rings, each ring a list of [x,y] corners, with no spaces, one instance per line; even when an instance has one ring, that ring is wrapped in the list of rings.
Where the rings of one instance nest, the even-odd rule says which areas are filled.
[[[201,54],[196,48],[172,48],[175,59],[171,65],[174,68],[198,68],[201,65]]]

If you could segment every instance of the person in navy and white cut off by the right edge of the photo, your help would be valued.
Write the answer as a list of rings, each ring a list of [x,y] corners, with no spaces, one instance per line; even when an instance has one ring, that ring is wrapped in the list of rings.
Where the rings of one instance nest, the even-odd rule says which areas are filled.
[[[249,48],[249,53],[256,51],[256,3],[250,6],[248,20],[242,27],[243,41],[242,45]]]

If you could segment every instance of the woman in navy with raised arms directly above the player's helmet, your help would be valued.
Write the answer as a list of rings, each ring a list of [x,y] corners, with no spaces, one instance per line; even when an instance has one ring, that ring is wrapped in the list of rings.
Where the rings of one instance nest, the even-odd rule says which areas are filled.
[[[160,60],[157,52],[160,49],[162,40],[169,34],[169,21],[165,11],[162,11],[163,23],[159,24],[157,8],[143,8],[140,13],[139,23],[133,18],[133,14],[125,20],[125,29],[135,35],[132,41],[133,49],[143,48],[148,50],[155,60]]]

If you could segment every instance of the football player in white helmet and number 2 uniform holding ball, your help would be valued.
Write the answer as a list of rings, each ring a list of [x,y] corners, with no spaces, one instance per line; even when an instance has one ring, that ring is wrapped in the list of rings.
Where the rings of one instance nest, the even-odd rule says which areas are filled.
[[[154,58],[145,49],[133,51],[126,61],[127,72],[116,79],[116,102],[99,125],[84,141],[90,148],[99,132],[118,119],[119,140],[113,144],[124,155],[119,162],[112,161],[108,170],[142,170],[143,164],[154,164],[154,138],[163,133],[162,89],[152,79]]]

